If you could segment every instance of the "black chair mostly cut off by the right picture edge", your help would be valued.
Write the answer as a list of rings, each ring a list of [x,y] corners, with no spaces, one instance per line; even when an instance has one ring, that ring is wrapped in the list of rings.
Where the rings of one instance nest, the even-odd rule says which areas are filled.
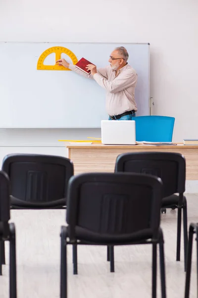
[[[198,287],[198,224],[191,223],[189,226],[189,243],[188,243],[188,249],[187,249],[187,271],[186,271],[185,298],[189,298],[189,294],[190,294],[191,264],[192,264],[192,250],[193,250],[193,235],[194,234],[196,234],[196,241],[197,241],[197,287]],[[198,295],[198,289],[197,289],[197,295]]]

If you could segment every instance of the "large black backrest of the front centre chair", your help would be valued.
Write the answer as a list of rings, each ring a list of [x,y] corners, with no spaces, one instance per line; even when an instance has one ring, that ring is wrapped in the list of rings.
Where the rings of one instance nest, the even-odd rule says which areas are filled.
[[[108,235],[158,231],[162,199],[160,178],[134,173],[84,173],[69,180],[66,221]],[[144,208],[143,208],[144,206]]]

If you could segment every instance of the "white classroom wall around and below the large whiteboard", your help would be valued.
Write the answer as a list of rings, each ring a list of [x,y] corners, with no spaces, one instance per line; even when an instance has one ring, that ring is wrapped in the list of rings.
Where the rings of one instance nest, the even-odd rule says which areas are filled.
[[[149,42],[153,114],[176,118],[174,142],[198,138],[197,0],[1,0],[0,28],[0,41]],[[3,130],[0,145],[57,146],[63,133]],[[75,136],[93,133],[75,131]],[[6,150],[0,148],[0,160]]]

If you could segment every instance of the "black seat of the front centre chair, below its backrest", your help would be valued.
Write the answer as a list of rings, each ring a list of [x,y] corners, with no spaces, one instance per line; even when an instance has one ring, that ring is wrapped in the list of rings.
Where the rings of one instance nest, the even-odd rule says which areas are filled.
[[[114,245],[116,244],[127,244],[127,243],[131,243],[131,242],[139,242],[141,240],[144,240],[144,242],[146,242],[146,239],[151,239],[152,238],[152,230],[150,228],[141,230],[141,231],[137,231],[134,233],[126,233],[126,234],[116,234],[116,235],[112,235],[112,234],[99,234],[97,232],[93,232],[90,231],[86,228],[82,228],[79,226],[76,226],[76,239],[77,240],[84,240],[87,242],[92,242],[92,243],[112,243]],[[69,236],[68,234],[68,227],[67,227],[67,236]]]

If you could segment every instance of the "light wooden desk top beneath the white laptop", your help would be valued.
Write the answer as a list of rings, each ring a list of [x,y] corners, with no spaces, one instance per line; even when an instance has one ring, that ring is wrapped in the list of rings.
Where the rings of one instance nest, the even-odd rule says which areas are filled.
[[[84,149],[84,148],[89,148],[89,149],[145,149],[145,148],[153,148],[153,149],[198,149],[198,145],[184,145],[183,143],[174,143],[177,144],[176,146],[171,146],[171,145],[162,145],[162,146],[153,146],[153,145],[144,145],[144,144],[137,144],[137,145],[103,145],[103,144],[91,144],[91,145],[72,145],[66,143],[66,148],[68,149]]]

